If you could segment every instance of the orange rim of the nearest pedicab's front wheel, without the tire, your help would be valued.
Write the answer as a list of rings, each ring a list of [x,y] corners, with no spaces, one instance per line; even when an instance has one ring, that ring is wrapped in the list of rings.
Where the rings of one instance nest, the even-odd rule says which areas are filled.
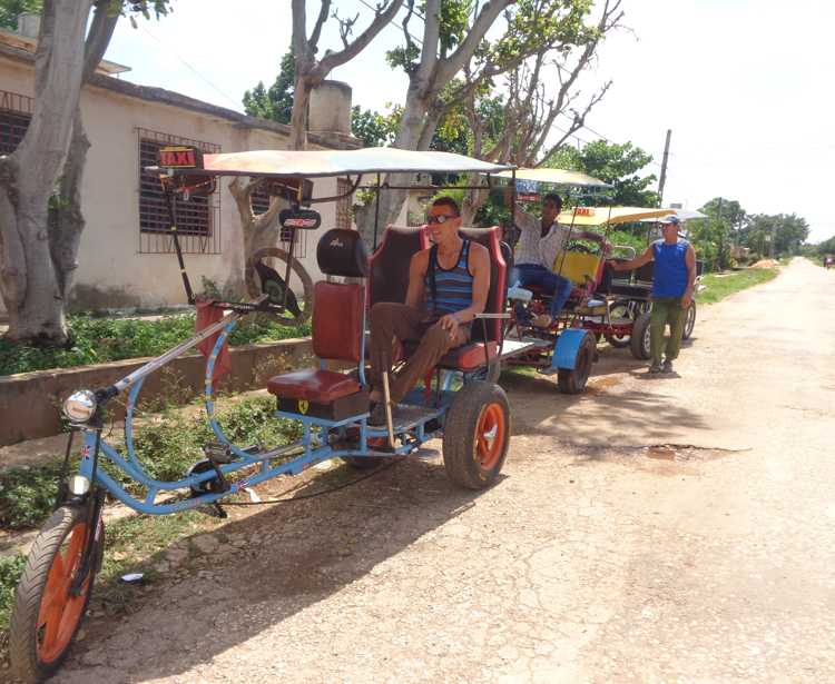
[[[51,663],[63,653],[81,619],[90,576],[78,596],[70,594],[70,587],[81,567],[86,538],[87,524],[78,523],[52,558],[38,612],[38,657],[42,663]]]

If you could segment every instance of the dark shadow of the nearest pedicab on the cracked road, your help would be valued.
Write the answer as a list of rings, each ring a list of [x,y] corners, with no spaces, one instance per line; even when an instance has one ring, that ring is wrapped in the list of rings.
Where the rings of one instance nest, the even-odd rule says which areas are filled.
[[[323,479],[352,477],[344,468],[295,495],[322,489]],[[450,484],[442,465],[409,459],[328,496],[229,523],[215,534],[244,535],[245,546],[222,543],[216,554],[193,559],[180,581],[151,584],[144,591],[148,603],[132,615],[88,621],[86,640],[57,681],[105,681],[109,675],[91,667],[106,666],[120,671],[120,682],[146,682],[210,663],[361,581],[472,507],[478,495]]]

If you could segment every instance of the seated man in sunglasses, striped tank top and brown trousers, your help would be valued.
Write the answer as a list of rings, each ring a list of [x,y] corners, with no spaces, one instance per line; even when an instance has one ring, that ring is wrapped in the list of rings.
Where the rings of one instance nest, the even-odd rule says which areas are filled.
[[[405,303],[381,301],[371,309],[372,425],[385,422],[381,378],[391,373],[394,341],[420,340],[390,384],[391,400],[396,403],[444,354],[470,339],[472,321],[487,306],[490,254],[459,235],[455,200],[436,199],[428,224],[433,246],[412,257]]]

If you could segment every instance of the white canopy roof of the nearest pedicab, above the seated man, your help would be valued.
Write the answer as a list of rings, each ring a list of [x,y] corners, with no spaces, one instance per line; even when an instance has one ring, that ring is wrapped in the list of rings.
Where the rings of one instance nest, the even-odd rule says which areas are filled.
[[[393,147],[358,150],[255,150],[204,155],[203,169],[217,176],[278,176],[316,178],[358,174],[494,174],[512,167],[454,155],[452,152],[412,151]]]

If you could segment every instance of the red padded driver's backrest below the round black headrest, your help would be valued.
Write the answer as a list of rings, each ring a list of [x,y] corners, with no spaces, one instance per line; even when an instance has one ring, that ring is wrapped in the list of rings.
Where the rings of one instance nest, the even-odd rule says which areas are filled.
[[[313,353],[358,363],[362,355],[364,285],[316,282],[313,290]]]

